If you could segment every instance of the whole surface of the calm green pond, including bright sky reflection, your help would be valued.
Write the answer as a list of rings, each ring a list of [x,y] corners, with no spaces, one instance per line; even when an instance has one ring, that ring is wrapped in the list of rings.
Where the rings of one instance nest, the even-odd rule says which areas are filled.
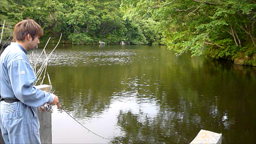
[[[256,143],[256,67],[174,53],[59,45],[48,63],[54,93],[85,127],[111,140],[55,108],[53,143],[190,143],[200,129],[222,133],[222,143]]]

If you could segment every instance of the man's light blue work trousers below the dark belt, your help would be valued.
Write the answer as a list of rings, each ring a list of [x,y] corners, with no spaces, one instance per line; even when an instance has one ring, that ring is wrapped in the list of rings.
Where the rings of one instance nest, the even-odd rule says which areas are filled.
[[[36,108],[22,102],[1,101],[0,126],[5,144],[41,143]]]

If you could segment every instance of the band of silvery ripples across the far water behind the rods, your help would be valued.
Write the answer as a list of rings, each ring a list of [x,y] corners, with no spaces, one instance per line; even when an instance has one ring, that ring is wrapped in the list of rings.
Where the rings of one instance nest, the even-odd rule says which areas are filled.
[[[42,50],[29,52],[31,65],[36,63]],[[47,55],[49,52],[47,53]],[[56,50],[48,61],[49,66],[100,66],[100,65],[127,65],[132,63],[136,53],[134,50],[106,50],[106,51],[66,51]],[[38,65],[45,61],[45,54],[38,60]]]

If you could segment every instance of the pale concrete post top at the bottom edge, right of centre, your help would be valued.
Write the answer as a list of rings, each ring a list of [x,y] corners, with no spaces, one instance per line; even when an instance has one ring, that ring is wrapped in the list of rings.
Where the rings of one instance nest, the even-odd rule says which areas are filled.
[[[196,138],[190,144],[200,144],[200,143],[211,143],[211,144],[221,144],[222,134],[205,131],[201,131],[197,134]]]

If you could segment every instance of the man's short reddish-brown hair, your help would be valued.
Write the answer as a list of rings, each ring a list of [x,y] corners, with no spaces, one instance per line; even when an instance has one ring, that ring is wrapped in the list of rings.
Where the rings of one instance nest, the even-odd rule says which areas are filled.
[[[21,22],[17,23],[14,28],[14,38],[12,40],[14,42],[17,40],[23,42],[28,34],[32,37],[32,40],[34,40],[36,36],[43,36],[41,26],[38,25],[33,19],[22,20]]]

